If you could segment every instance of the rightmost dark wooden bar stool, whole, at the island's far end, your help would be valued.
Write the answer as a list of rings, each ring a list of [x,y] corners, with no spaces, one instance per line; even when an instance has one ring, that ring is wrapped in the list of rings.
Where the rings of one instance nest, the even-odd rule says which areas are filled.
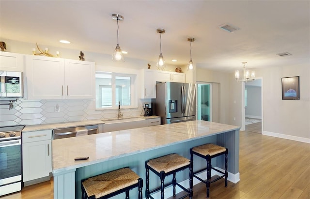
[[[228,149],[222,146],[218,146],[216,144],[208,143],[201,146],[196,146],[190,149],[190,161],[193,162],[193,155],[200,156],[207,160],[207,167],[203,168],[199,171],[193,172],[193,177],[197,178],[207,186],[207,198],[209,198],[210,195],[210,184],[216,182],[217,180],[225,177],[225,187],[227,187],[227,155],[228,155]],[[212,167],[211,165],[211,159],[220,155],[225,154],[225,172],[219,171]],[[219,176],[217,179],[214,179],[211,181],[211,170],[215,170],[223,175]],[[200,177],[198,177],[197,173],[200,173],[202,171],[207,171],[207,180],[202,180]]]

